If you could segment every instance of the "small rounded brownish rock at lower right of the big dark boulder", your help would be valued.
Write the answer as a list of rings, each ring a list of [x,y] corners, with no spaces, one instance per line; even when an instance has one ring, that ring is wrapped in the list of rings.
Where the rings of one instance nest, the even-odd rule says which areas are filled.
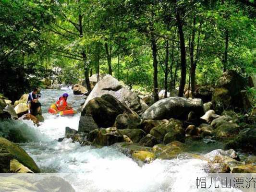
[[[140,119],[134,114],[119,114],[116,117],[114,127],[117,129],[136,129],[139,128]]]

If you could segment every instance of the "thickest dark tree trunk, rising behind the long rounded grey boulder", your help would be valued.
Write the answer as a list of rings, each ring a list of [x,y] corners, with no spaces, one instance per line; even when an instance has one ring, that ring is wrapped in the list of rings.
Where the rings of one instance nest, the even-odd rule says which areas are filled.
[[[180,11],[177,11],[176,19],[177,19],[179,36],[180,36],[180,48],[181,48],[181,81],[180,81],[178,96],[183,96],[184,87],[186,84],[186,49],[185,49],[183,24],[180,16]]]

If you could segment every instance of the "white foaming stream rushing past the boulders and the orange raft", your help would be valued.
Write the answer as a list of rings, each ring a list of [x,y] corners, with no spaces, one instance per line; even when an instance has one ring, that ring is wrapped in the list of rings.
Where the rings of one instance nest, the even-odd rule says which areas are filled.
[[[0,122],[1,126],[22,129],[27,134],[30,142],[20,145],[42,172],[80,173],[71,183],[74,189],[84,192],[192,192],[198,174],[206,174],[207,162],[198,159],[157,159],[140,167],[113,147],[81,147],[71,139],[58,142],[66,126],[78,129],[80,116],[79,112],[73,117],[47,113],[50,104],[64,92],[70,95],[68,103],[73,103],[76,109],[85,101],[82,96],[74,96],[72,90],[42,90],[40,102],[45,121],[39,127],[26,120]],[[219,146],[211,147],[199,151],[207,153]],[[196,145],[195,149],[198,150]]]

